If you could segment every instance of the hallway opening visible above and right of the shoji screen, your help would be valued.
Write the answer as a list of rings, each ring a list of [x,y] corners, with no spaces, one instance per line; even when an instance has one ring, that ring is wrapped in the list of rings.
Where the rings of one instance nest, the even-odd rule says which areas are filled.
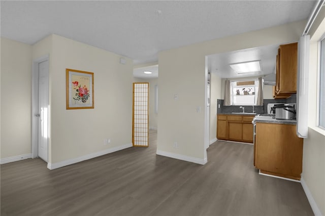
[[[149,146],[156,143],[158,129],[158,62],[134,66],[133,82],[149,83]]]

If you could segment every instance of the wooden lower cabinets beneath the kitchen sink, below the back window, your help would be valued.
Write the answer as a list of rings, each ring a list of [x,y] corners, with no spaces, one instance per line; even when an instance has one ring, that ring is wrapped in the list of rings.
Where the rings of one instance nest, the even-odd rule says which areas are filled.
[[[218,114],[217,139],[253,143],[254,115]]]

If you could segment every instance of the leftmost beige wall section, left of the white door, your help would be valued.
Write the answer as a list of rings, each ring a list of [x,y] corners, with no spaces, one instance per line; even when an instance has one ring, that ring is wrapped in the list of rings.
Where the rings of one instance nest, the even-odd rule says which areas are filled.
[[[1,159],[31,153],[31,46],[1,38]]]

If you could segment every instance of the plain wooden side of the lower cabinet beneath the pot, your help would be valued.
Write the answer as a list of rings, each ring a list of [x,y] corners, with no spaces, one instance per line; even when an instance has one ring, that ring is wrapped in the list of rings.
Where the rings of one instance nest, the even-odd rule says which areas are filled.
[[[254,164],[264,174],[300,180],[303,139],[296,125],[256,122]]]

